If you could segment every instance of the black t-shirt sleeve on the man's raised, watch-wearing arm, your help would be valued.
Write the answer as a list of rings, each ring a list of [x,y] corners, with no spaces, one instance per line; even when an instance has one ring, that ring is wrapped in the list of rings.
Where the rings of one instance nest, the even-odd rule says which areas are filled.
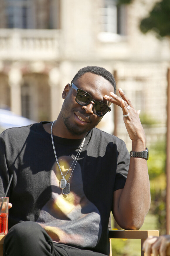
[[[129,162],[129,152],[126,148],[125,142],[122,142],[121,147],[118,149],[118,163],[115,176],[114,191],[124,188],[129,169]]]

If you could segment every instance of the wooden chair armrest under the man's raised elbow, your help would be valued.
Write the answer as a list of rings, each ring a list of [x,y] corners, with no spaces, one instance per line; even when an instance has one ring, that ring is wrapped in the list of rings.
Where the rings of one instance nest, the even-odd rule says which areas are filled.
[[[109,230],[110,238],[147,239],[149,236],[159,237],[159,230]]]

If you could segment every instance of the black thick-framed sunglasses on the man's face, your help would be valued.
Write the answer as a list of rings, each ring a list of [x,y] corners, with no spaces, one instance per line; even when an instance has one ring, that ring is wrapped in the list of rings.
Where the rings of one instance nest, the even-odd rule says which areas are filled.
[[[91,101],[94,102],[92,110],[93,110],[93,113],[99,117],[103,117],[108,111],[111,111],[111,108],[108,107],[103,102],[95,101],[94,99],[92,99],[91,95],[88,92],[78,89],[77,86],[73,83],[71,84],[71,86],[73,89],[75,89],[77,91],[75,100],[81,106],[86,106]]]

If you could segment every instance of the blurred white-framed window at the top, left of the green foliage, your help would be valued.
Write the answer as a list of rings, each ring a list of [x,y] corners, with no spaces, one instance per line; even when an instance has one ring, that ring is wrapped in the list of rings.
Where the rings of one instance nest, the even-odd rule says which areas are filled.
[[[116,5],[116,0],[103,0],[101,8],[101,32],[125,35],[125,6]]]

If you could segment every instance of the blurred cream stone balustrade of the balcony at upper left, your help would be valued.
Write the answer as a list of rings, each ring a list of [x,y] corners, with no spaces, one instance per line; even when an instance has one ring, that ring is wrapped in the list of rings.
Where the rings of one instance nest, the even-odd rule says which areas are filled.
[[[60,30],[0,29],[1,60],[58,60]]]

